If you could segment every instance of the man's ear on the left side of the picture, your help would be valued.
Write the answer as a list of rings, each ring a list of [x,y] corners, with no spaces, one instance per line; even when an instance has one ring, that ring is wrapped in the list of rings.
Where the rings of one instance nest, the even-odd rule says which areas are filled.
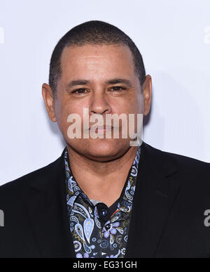
[[[43,83],[42,96],[45,102],[45,107],[52,122],[56,122],[55,108],[54,108],[54,96],[50,85]]]

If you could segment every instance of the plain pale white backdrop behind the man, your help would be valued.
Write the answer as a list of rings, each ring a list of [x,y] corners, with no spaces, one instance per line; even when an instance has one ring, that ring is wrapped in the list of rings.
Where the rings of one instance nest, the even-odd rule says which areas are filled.
[[[153,79],[144,141],[210,162],[209,11],[209,0],[0,0],[0,185],[61,155],[41,84],[57,41],[87,20],[116,25],[141,51]]]

